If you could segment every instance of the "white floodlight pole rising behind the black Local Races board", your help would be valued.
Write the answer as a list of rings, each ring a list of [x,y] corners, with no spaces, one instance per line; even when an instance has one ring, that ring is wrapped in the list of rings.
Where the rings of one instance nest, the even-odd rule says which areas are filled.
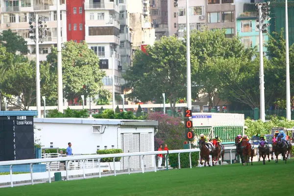
[[[40,58],[39,58],[39,17],[35,15],[36,21],[36,105],[38,118],[41,118],[41,87],[40,87]]]

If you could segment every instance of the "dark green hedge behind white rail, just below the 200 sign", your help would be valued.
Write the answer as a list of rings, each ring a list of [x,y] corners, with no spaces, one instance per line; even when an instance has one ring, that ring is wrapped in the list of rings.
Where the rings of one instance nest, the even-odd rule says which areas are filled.
[[[189,152],[180,154],[181,168],[190,168]],[[191,153],[192,167],[197,167],[199,162],[199,152]],[[178,154],[169,154],[169,163],[174,168],[178,168]]]

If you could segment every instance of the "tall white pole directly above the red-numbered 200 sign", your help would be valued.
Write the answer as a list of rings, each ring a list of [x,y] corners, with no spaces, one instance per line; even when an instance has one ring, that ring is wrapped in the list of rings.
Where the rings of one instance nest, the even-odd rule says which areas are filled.
[[[191,96],[191,62],[190,62],[190,20],[189,20],[189,0],[186,0],[186,30],[187,30],[187,107],[192,109]]]

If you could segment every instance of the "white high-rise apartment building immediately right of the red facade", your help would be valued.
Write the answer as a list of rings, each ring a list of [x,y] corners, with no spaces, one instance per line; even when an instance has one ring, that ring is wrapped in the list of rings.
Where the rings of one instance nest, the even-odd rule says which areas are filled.
[[[85,42],[100,59],[100,69],[106,72],[102,79],[103,88],[112,91],[114,68],[115,92],[121,93],[119,0],[85,0],[84,10]]]

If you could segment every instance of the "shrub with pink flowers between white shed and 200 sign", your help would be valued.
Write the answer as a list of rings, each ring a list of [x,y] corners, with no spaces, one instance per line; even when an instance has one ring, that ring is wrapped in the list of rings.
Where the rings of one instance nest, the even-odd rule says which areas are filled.
[[[155,150],[167,144],[169,149],[182,149],[185,142],[185,124],[178,117],[170,117],[163,113],[149,114],[148,120],[158,121],[158,131],[154,133]]]

